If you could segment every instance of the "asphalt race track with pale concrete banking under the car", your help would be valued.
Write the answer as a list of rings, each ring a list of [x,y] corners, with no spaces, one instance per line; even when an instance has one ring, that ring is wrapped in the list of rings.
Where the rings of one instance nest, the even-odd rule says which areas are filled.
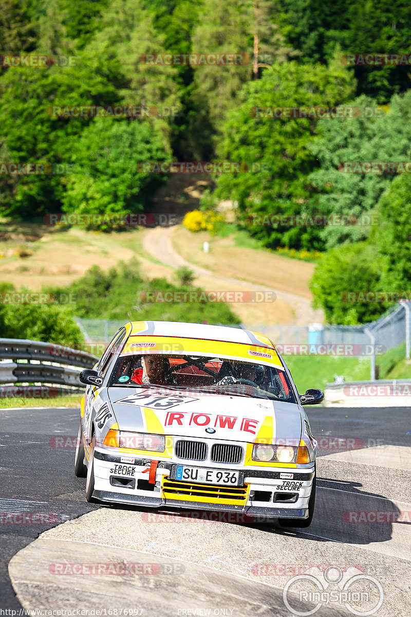
[[[100,577],[94,582],[92,577],[71,577],[75,582],[64,587],[61,580],[67,577],[57,577],[55,583],[51,576],[44,595],[39,581],[34,586],[28,581],[29,576],[35,578],[36,568],[41,569],[40,561],[30,565],[26,563],[30,557],[18,561],[17,555],[12,564],[17,559],[14,572],[25,608],[65,608],[68,598],[83,606],[88,594],[100,606],[107,602],[108,607],[113,598],[118,606],[134,601],[134,606],[147,609],[143,617],[290,615],[283,603],[283,587],[292,573],[315,564],[341,566],[342,571],[348,565],[360,566],[384,592],[375,614],[407,615],[411,608],[410,408],[312,407],[307,412],[312,433],[320,439],[317,502],[311,526],[297,531],[258,522],[176,524],[175,517],[170,524],[166,511],[148,524],[142,508],[88,504],[85,481],[73,474],[74,450],[55,447],[62,443],[56,438],[62,436],[74,441],[78,410],[0,410],[0,608],[22,608],[9,578],[10,559],[51,530],[33,544],[40,561],[44,555],[44,562],[50,563],[62,554],[62,547],[67,549],[64,560],[68,561],[93,561],[94,549],[105,562],[124,560],[129,553],[134,561],[139,556],[160,566],[174,563],[177,570],[183,565],[185,586],[181,577],[168,576],[158,586],[158,576],[157,581],[155,576],[136,576],[144,584],[135,584],[134,595],[128,596],[132,577]],[[384,514],[380,522],[362,522],[359,513],[364,512]],[[10,518],[10,513],[15,516]],[[61,525],[64,521],[71,522]],[[295,569],[284,576],[279,568],[283,565]],[[100,586],[100,594],[92,584]],[[179,603],[179,597],[184,601]],[[38,604],[27,598],[38,598]],[[202,613],[200,607],[219,608]],[[222,607],[231,608],[225,613]],[[341,603],[327,601],[316,614],[352,612]]]

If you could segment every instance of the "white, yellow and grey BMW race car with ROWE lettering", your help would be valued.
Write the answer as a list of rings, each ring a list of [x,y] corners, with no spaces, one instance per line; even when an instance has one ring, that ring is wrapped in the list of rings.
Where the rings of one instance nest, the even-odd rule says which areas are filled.
[[[134,321],[87,384],[75,455],[87,501],[242,512],[307,527],[317,441],[269,338],[226,326]]]

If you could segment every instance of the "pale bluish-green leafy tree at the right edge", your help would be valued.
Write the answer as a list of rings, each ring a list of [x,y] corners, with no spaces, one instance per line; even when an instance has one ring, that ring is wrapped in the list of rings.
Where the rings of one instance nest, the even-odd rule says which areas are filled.
[[[319,212],[359,219],[359,225],[327,226],[327,247],[368,237],[364,215],[375,213],[378,199],[395,177],[394,173],[343,173],[348,168],[344,163],[411,160],[411,91],[393,96],[387,114],[378,112],[375,101],[365,96],[352,106],[361,110],[359,117],[320,120],[320,138],[307,144],[320,164],[309,176],[319,191]]]

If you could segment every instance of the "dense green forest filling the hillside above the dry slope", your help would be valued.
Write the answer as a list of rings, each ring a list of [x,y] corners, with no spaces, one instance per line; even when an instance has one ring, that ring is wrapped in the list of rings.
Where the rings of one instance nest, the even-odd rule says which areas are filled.
[[[203,208],[321,252],[327,321],[370,321],[342,290],[411,280],[410,35],[399,0],[0,0],[0,216],[150,212],[142,162],[229,162]]]

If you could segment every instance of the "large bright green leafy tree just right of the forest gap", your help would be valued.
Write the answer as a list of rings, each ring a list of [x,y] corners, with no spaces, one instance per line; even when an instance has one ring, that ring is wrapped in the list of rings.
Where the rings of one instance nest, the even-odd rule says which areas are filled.
[[[238,203],[238,217],[266,246],[322,246],[315,228],[256,225],[255,215],[296,215],[318,212],[307,176],[315,168],[308,149],[317,136],[311,118],[275,118],[265,109],[335,106],[352,94],[352,81],[343,67],[275,64],[261,80],[244,86],[241,103],[230,112],[219,141],[222,159],[242,162],[248,171],[222,173],[216,196]],[[259,111],[262,110],[262,111]],[[329,120],[328,122],[334,122]]]

